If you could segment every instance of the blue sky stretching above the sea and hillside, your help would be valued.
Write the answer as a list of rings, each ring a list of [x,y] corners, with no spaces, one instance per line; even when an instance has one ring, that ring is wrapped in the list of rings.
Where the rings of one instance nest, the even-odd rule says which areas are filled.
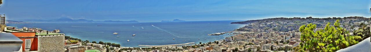
[[[275,17],[370,18],[370,0],[3,0],[7,20],[72,19],[159,22]]]

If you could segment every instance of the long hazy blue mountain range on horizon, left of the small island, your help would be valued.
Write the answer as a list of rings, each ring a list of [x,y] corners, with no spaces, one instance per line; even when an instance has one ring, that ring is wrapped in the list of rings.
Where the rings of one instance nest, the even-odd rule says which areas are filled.
[[[27,20],[30,22],[37,22],[37,23],[137,23],[138,21],[93,21],[93,20],[86,20],[86,19],[71,19],[71,18],[57,18],[51,20]]]

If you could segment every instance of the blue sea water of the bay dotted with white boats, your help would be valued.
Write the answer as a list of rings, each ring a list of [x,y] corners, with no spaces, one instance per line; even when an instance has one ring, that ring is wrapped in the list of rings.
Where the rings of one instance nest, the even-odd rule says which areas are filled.
[[[138,45],[168,45],[189,42],[213,42],[231,35],[207,35],[216,32],[233,31],[242,24],[230,24],[236,21],[187,21],[187,22],[141,22],[141,23],[33,23],[7,24],[12,27],[36,27],[43,30],[59,29],[66,36],[82,40],[102,41],[120,44],[126,47],[145,47]],[[102,25],[102,26],[97,26]],[[153,26],[152,26],[153,25]],[[117,32],[119,34],[113,34]],[[135,34],[135,36],[132,36]],[[116,37],[120,36],[120,37]],[[173,38],[175,38],[173,40]],[[130,41],[127,41],[127,40]],[[189,44],[193,45],[193,44]]]

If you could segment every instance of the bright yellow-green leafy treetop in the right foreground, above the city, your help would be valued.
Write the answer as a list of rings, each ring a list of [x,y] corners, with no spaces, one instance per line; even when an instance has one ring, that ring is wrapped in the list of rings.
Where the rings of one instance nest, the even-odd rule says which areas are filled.
[[[316,28],[315,24],[302,25],[299,28],[301,32],[298,52],[335,52],[342,48],[347,48],[350,45],[357,44],[359,36],[348,36],[349,32],[339,25],[339,20],[336,20],[334,26],[330,23],[326,24],[323,30],[313,31]]]

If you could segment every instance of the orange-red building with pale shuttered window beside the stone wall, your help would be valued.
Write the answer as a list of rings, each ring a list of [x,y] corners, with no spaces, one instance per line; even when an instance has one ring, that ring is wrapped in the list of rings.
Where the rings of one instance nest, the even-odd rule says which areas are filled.
[[[37,51],[36,32],[10,32],[23,41],[22,51]]]

